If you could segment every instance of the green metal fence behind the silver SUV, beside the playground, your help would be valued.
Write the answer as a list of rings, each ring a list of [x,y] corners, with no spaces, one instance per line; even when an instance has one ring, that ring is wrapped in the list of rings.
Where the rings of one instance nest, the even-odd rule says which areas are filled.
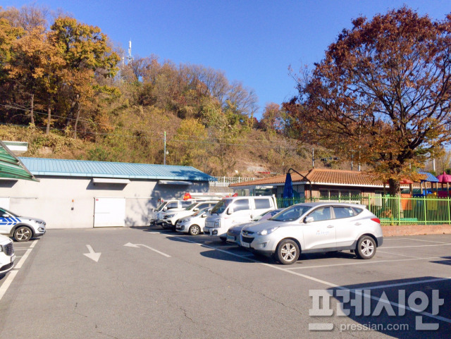
[[[289,207],[301,202],[347,202],[363,204],[382,225],[434,225],[451,224],[451,200],[439,197],[319,197],[305,199],[277,199],[278,207]]]

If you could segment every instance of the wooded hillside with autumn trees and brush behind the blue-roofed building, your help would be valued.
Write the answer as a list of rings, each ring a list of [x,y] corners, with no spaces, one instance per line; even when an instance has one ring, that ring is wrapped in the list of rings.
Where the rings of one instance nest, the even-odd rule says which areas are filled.
[[[163,164],[166,132],[166,164],[211,175],[311,166],[283,109],[258,121],[254,91],[221,70],[122,54],[70,16],[0,8],[1,140],[29,142],[25,156]]]

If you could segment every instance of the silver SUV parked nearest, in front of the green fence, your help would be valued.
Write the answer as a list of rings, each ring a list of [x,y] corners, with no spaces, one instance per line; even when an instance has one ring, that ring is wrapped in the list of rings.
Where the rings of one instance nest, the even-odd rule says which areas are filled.
[[[297,204],[241,231],[243,247],[282,264],[295,263],[301,253],[346,249],[371,259],[382,242],[381,221],[360,204]]]

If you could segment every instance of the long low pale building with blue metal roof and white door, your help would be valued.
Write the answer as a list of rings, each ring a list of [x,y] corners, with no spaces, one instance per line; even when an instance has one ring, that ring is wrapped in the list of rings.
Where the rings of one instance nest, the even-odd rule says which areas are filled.
[[[0,180],[0,206],[48,228],[147,226],[161,199],[206,194],[216,180],[190,166],[19,159],[39,181]]]

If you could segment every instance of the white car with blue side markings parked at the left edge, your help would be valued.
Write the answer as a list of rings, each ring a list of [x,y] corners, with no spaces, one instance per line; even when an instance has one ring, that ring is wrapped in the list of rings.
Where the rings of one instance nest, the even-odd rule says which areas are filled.
[[[0,234],[13,237],[16,241],[27,241],[45,233],[45,221],[29,216],[18,216],[0,208]]]

